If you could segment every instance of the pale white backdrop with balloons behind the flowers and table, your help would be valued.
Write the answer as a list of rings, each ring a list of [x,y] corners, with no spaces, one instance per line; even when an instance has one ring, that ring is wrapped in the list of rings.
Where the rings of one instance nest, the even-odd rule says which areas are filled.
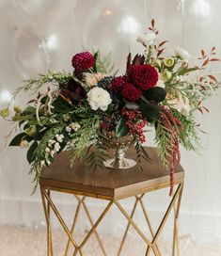
[[[133,53],[142,53],[135,38],[151,18],[171,47],[180,45],[195,58],[201,48],[210,50],[215,45],[221,56],[220,9],[220,0],[1,0],[0,107],[8,103],[10,93],[25,78],[47,70],[71,70],[71,56],[84,47],[111,51],[123,70],[129,47]],[[16,104],[25,102],[21,98]],[[188,243],[213,243],[221,251],[221,91],[205,104],[210,114],[198,115],[208,133],[201,136],[201,155],[182,150],[186,176],[181,232]],[[9,128],[0,120],[0,224],[39,227],[44,225],[44,216],[39,193],[30,196],[32,178],[27,174],[25,152],[4,148]],[[152,136],[147,136],[150,145]],[[165,209],[167,195],[166,190],[150,197],[154,219]],[[63,209],[70,210],[71,199],[56,198]],[[90,203],[95,209],[102,206]],[[129,201],[126,203],[129,206]],[[109,221],[116,221],[115,217],[120,220],[114,213]],[[141,217],[139,221],[143,224]],[[168,225],[165,239],[170,231]]]

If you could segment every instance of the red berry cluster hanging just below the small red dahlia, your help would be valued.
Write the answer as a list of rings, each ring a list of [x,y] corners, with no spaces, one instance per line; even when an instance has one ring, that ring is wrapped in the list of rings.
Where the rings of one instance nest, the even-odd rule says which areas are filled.
[[[126,125],[129,128],[129,133],[138,136],[141,143],[146,141],[144,136],[144,127],[148,123],[138,110],[122,110],[122,116],[126,120]]]

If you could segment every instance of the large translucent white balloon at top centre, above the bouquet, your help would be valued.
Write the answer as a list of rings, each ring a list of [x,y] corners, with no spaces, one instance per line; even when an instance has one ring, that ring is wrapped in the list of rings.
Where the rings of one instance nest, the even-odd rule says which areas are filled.
[[[84,2],[90,5],[87,9]],[[111,52],[116,66],[125,71],[129,48],[140,53],[143,50],[135,41],[148,23],[140,1],[92,2],[80,1],[74,13],[77,24],[81,24],[78,36],[82,45],[87,49],[101,49],[103,53]]]

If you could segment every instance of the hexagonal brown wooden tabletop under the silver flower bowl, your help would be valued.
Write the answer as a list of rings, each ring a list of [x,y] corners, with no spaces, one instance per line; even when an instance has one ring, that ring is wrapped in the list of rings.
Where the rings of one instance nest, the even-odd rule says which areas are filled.
[[[70,168],[68,152],[61,152],[55,157],[54,163],[42,170],[40,185],[51,190],[58,190],[91,197],[112,199],[130,196],[169,186],[169,172],[161,164],[155,148],[145,148],[150,154],[151,162],[142,161],[143,170],[135,166],[128,169],[97,169],[87,168],[87,162],[76,161]],[[127,157],[136,158],[133,150]],[[184,172],[176,166],[175,184],[182,183]]]

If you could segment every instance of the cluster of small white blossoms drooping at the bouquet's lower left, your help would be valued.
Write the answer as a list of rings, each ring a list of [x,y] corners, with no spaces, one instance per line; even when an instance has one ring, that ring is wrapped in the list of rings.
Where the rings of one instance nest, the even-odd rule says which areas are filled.
[[[51,162],[49,160],[49,156],[54,157],[55,152],[60,151],[60,143],[64,141],[64,136],[63,135],[55,135],[55,139],[49,139],[48,140],[48,147],[45,149],[45,160],[42,160],[40,162],[41,167],[45,166],[45,163],[47,165],[50,165]]]

